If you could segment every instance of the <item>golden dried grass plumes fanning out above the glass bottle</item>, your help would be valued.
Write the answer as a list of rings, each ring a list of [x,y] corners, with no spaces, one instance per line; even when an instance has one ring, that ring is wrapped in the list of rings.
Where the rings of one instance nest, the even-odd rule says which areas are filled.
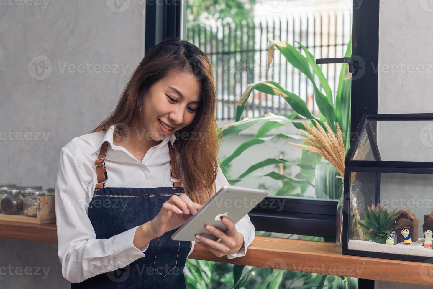
[[[310,128],[307,124],[303,123],[307,131],[302,131],[307,138],[304,138],[307,144],[293,144],[298,148],[307,151],[313,151],[321,155],[326,161],[329,161],[344,177],[344,159],[345,149],[343,143],[343,136],[341,134],[340,126],[337,123],[337,137],[335,137],[332,129],[324,122],[327,132],[323,129],[317,120],[313,119],[315,127]]]

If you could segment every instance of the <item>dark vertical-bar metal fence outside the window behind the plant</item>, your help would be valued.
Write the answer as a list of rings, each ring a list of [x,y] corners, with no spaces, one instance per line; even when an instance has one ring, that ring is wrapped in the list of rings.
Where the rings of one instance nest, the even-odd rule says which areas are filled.
[[[284,19],[261,19],[240,25],[196,25],[187,27],[186,39],[209,57],[216,83],[216,118],[233,120],[236,102],[248,83],[273,80],[306,101],[313,114],[318,113],[313,86],[304,74],[294,69],[275,49],[267,71],[268,41],[287,41],[301,51],[299,41],[314,58],[343,57],[352,31],[350,10],[287,16]],[[334,92],[338,85],[341,64],[320,65]],[[317,83],[319,83],[317,81]],[[335,101],[335,99],[334,99]],[[254,90],[246,104],[243,117],[260,116],[266,112],[279,115],[291,113],[281,98]]]

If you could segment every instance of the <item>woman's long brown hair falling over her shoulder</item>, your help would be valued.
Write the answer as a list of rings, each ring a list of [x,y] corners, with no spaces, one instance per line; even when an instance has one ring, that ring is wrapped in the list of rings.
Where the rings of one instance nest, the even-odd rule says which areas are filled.
[[[177,37],[165,39],[146,53],[124,88],[114,111],[92,132],[119,124],[132,127],[142,120],[142,101],[153,83],[174,71],[187,71],[201,82],[201,103],[190,125],[174,132],[176,170],[187,196],[204,204],[215,194],[219,136],[215,118],[216,90],[209,58],[194,44]],[[188,138],[184,136],[188,135]]]

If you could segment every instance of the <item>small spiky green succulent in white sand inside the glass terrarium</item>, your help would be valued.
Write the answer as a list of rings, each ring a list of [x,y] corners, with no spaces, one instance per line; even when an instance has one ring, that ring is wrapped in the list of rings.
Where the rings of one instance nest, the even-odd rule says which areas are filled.
[[[398,217],[397,208],[388,213],[386,206],[381,207],[380,203],[375,207],[367,206],[368,211],[362,210],[364,220],[358,221],[361,228],[367,233],[362,237],[376,243],[386,244],[387,235],[391,233],[390,228],[399,228],[401,223],[395,223]]]

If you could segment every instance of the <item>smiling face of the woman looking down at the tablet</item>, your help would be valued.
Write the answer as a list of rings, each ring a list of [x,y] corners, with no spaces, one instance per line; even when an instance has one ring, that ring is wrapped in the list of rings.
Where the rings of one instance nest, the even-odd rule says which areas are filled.
[[[191,124],[200,106],[200,93],[200,81],[183,71],[155,82],[143,96],[145,133],[161,141]]]

